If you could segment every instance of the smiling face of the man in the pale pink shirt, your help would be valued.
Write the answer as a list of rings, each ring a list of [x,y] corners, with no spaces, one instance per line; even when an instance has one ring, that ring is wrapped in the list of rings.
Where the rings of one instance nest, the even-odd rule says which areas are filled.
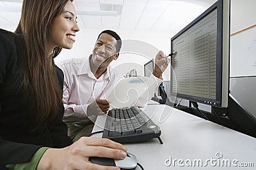
[[[101,34],[93,48],[93,65],[98,69],[106,69],[110,62],[117,58],[118,53],[116,53],[116,39],[107,33]]]

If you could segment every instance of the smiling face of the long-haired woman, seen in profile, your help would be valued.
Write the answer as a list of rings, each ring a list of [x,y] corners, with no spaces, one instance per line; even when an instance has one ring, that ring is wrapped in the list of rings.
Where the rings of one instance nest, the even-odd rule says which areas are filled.
[[[56,46],[67,49],[72,48],[74,42],[76,41],[76,32],[79,31],[76,19],[76,9],[71,1],[67,1],[67,4],[65,5],[61,14],[54,18],[50,32],[50,50]]]

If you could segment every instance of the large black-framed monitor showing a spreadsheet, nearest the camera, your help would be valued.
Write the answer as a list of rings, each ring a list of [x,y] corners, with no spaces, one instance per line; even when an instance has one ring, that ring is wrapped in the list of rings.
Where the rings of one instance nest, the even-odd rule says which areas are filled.
[[[227,107],[230,1],[219,0],[171,39],[171,94]],[[175,74],[175,75],[174,75]]]

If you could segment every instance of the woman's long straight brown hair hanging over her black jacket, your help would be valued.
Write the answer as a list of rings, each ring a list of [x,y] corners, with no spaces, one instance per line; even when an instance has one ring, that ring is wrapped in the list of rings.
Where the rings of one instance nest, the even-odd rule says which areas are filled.
[[[31,131],[56,117],[60,108],[62,89],[56,78],[53,58],[61,52],[61,47],[48,52],[47,43],[51,39],[54,18],[60,15],[68,1],[71,0],[23,0],[15,33],[20,34],[26,46],[26,55],[22,56],[21,81],[22,88],[31,99]]]

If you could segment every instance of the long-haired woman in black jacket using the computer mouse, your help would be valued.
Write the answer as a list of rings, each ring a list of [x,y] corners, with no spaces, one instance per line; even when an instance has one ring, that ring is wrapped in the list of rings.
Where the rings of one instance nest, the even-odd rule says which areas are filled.
[[[89,157],[124,159],[108,139],[67,136],[63,73],[54,65],[76,32],[72,0],[24,0],[16,34],[0,29],[0,169],[118,169]]]

